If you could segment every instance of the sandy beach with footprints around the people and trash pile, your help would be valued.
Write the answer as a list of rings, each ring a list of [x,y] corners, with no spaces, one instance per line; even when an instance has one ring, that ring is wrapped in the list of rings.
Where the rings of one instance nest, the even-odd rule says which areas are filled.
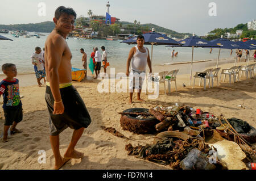
[[[234,66],[233,61],[233,58],[221,60],[219,66],[231,68]],[[247,65],[247,63],[240,62],[238,65]],[[193,74],[195,71],[203,71],[215,66],[216,61],[196,63],[193,66]],[[133,104],[128,104],[128,93],[100,94],[97,91],[100,81],[92,79],[91,73],[88,74],[88,79],[84,79],[82,82],[73,82],[88,108],[92,124],[85,129],[76,146],[76,149],[83,152],[85,157],[71,159],[62,169],[170,169],[170,166],[158,165],[127,155],[125,145],[129,143],[133,146],[149,144],[152,142],[151,137],[154,137],[152,134],[138,135],[123,131],[119,123],[118,112],[131,107],[154,108],[159,105],[185,104],[214,115],[222,114],[226,118],[242,119],[256,128],[256,77],[247,80],[243,77],[231,85],[227,82],[228,78],[226,82],[223,82],[222,79],[219,87],[214,82],[213,88],[207,87],[204,90],[203,87],[198,86],[198,80],[195,89],[189,86],[190,64],[159,65],[154,67],[153,71],[174,69],[180,69],[177,74],[177,92],[174,91],[174,84],[171,83],[171,94],[165,95],[163,84],[161,84],[158,99],[148,99],[148,96],[142,93],[142,99],[146,101],[138,102],[134,95]],[[1,75],[0,78],[2,79],[3,76]],[[18,75],[17,78],[20,82],[20,95],[23,95],[23,121],[18,124],[17,128],[21,129],[23,133],[14,134],[5,144],[0,142],[0,169],[52,169],[54,157],[49,142],[49,116],[44,100],[45,87],[35,85],[34,74]],[[183,83],[187,87],[183,87]],[[240,104],[243,104],[245,109],[238,107]],[[0,133],[2,133],[4,123],[2,108],[0,115]],[[131,141],[115,137],[102,130],[101,126],[113,127],[126,137],[140,138],[141,140]],[[68,128],[60,134],[62,155],[68,147],[72,133],[72,129]],[[46,163],[38,163],[39,150],[46,151]]]

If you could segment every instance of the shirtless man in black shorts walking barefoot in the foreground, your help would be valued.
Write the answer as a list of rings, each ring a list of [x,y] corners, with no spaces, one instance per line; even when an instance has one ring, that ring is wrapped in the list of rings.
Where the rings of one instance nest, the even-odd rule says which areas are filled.
[[[75,150],[84,128],[91,123],[90,115],[77,90],[72,86],[71,50],[65,41],[73,30],[76,12],[60,6],[55,11],[54,30],[46,40],[46,103],[49,111],[50,142],[55,157],[54,169],[60,169],[69,159],[84,156]],[[60,155],[59,134],[66,128],[75,129],[64,157]]]

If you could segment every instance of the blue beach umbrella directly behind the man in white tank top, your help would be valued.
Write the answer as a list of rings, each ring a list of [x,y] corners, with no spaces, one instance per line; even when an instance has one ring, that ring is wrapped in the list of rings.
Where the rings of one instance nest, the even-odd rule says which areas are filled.
[[[151,62],[153,60],[153,45],[180,45],[177,41],[171,39],[170,37],[166,35],[162,35],[161,33],[155,32],[155,29],[152,28],[152,31],[149,33],[143,34],[145,39],[145,45],[151,45]],[[137,44],[137,37],[135,36],[131,39],[124,40],[121,43],[127,43],[127,44]]]

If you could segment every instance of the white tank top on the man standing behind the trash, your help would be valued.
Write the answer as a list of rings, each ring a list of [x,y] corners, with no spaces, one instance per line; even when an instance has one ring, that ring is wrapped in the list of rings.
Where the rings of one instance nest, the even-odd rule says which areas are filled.
[[[146,47],[145,53],[142,53],[139,51],[138,46],[135,46],[136,53],[133,55],[133,60],[131,61],[131,70],[134,71],[146,71],[146,65],[147,65],[147,57],[148,57],[148,50]]]

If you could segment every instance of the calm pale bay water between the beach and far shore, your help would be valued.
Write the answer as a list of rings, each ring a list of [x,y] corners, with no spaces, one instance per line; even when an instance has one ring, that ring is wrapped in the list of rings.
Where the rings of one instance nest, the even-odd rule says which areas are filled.
[[[34,33],[30,33],[33,35]],[[46,36],[40,36],[40,39],[34,37],[24,38],[22,36],[15,38],[10,33],[0,33],[0,35],[9,37],[14,41],[0,40],[0,65],[5,63],[13,63],[16,65],[18,73],[32,73],[34,72],[33,65],[31,64],[30,56],[35,51],[35,47],[41,47],[43,49],[44,43],[49,33],[43,33]],[[128,45],[120,43],[121,41],[108,41],[108,40],[75,40],[70,38],[67,40],[68,46],[72,52],[72,66],[73,68],[82,68],[82,54],[80,48],[84,48],[85,53],[90,57],[90,53],[93,51],[93,47],[98,47],[101,50],[101,46],[105,46],[108,53],[108,61],[111,68],[117,70],[126,69],[126,61],[130,49],[135,45]],[[151,45],[146,45],[150,50]],[[172,58],[171,52],[175,49],[175,52],[179,52],[177,57]],[[195,48],[193,60],[214,60],[218,58],[218,49],[213,49],[212,54],[209,53],[210,48]],[[171,48],[165,45],[158,45],[153,47],[153,59],[152,65],[172,64],[176,62],[188,62],[191,61],[192,48]],[[232,56],[234,56],[234,51]],[[230,50],[222,49],[220,58],[229,58]],[[2,70],[0,70],[2,73]]]

